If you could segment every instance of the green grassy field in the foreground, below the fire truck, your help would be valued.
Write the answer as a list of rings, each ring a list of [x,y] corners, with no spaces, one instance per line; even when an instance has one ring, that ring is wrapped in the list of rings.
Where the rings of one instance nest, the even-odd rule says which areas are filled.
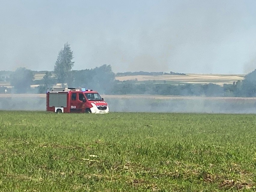
[[[0,111],[0,191],[253,191],[256,116]]]

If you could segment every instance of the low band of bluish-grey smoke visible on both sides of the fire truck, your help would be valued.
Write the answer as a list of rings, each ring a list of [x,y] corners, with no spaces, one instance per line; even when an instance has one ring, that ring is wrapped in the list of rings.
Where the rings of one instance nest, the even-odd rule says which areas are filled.
[[[155,99],[147,96],[120,98],[104,95],[104,99],[109,105],[110,112],[256,113],[255,98],[162,97],[162,99]],[[46,99],[43,95],[9,98],[2,96],[0,110],[46,111]]]

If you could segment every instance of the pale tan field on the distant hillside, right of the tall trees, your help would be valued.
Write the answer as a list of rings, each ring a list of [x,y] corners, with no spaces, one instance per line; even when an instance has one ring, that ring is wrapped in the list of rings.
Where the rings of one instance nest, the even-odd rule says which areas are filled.
[[[166,81],[172,84],[208,84],[218,85],[232,84],[234,81],[243,80],[245,75],[220,75],[220,74],[187,74],[187,75],[135,75],[116,77],[119,81],[135,80],[138,81]]]

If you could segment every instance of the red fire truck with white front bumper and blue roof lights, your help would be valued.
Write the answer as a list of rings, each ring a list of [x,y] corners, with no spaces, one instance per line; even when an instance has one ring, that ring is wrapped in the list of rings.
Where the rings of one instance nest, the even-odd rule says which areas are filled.
[[[105,114],[109,109],[97,91],[84,88],[53,88],[46,93],[46,111]]]

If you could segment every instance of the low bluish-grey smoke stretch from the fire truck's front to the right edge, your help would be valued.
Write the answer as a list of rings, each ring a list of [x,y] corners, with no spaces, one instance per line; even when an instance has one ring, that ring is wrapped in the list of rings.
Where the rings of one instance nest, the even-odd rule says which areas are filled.
[[[110,111],[167,113],[256,113],[256,99],[181,97],[175,99],[107,99]]]

